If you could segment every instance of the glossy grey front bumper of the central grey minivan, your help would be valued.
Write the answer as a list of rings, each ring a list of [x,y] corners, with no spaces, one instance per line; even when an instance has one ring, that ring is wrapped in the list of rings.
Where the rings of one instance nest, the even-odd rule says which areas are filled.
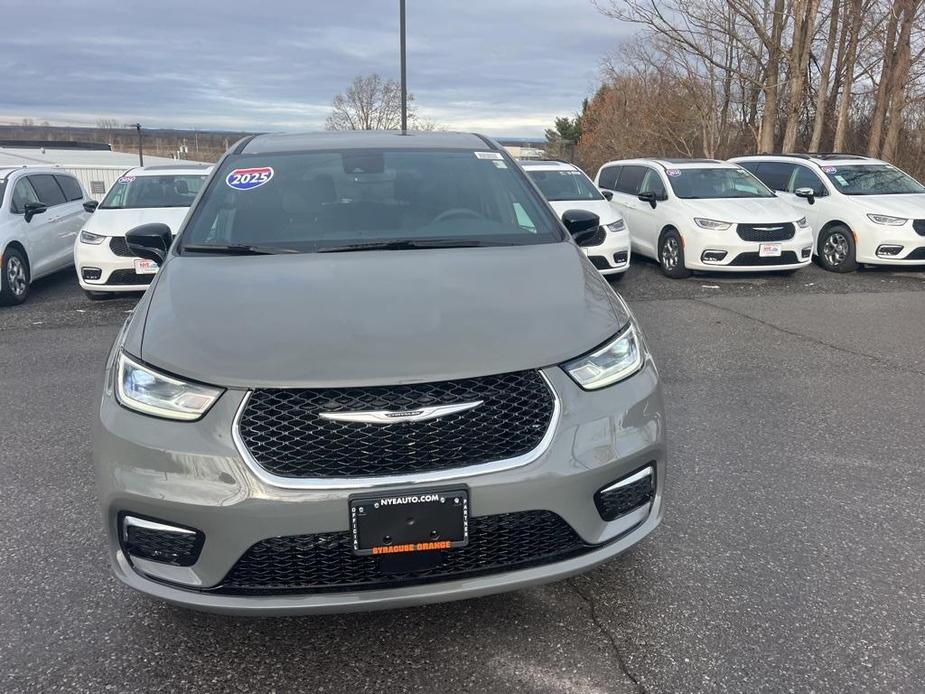
[[[454,600],[513,590],[587,570],[641,540],[659,523],[665,480],[665,421],[651,360],[615,386],[583,392],[558,368],[544,370],[562,405],[549,447],[520,467],[455,478],[469,489],[471,515],[545,510],[597,547],[543,566],[426,585],[297,595],[226,595],[220,586],[257,542],[349,528],[356,489],[286,489],[262,482],[232,439],[244,391],[228,391],[199,422],[177,423],[128,411],[106,393],[94,458],[116,575],[128,585],[188,607],[235,613],[369,610]],[[169,446],[169,450],[165,450]],[[594,493],[634,470],[655,466],[655,495],[644,513],[605,521]],[[376,491],[433,488],[433,481],[383,479]],[[437,483],[437,486],[440,486]],[[197,528],[205,534],[188,567],[128,557],[118,517],[128,512]],[[452,551],[452,550],[450,550]]]

